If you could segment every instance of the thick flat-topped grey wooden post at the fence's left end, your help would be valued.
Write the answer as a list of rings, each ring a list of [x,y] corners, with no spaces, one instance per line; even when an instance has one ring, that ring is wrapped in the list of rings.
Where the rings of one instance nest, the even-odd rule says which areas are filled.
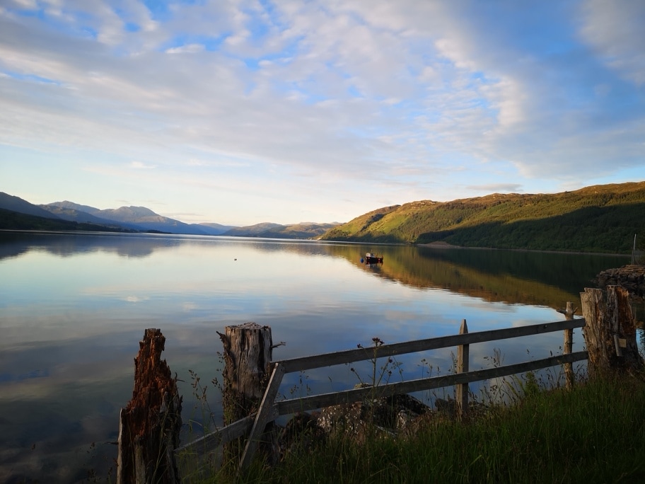
[[[226,326],[224,334],[218,334],[224,348],[222,404],[224,425],[228,425],[260,407],[270,376],[273,341],[271,328],[256,323]],[[277,459],[273,447],[272,436],[265,434],[258,450],[269,463]],[[224,462],[237,466],[243,450],[242,442],[226,444]]]

